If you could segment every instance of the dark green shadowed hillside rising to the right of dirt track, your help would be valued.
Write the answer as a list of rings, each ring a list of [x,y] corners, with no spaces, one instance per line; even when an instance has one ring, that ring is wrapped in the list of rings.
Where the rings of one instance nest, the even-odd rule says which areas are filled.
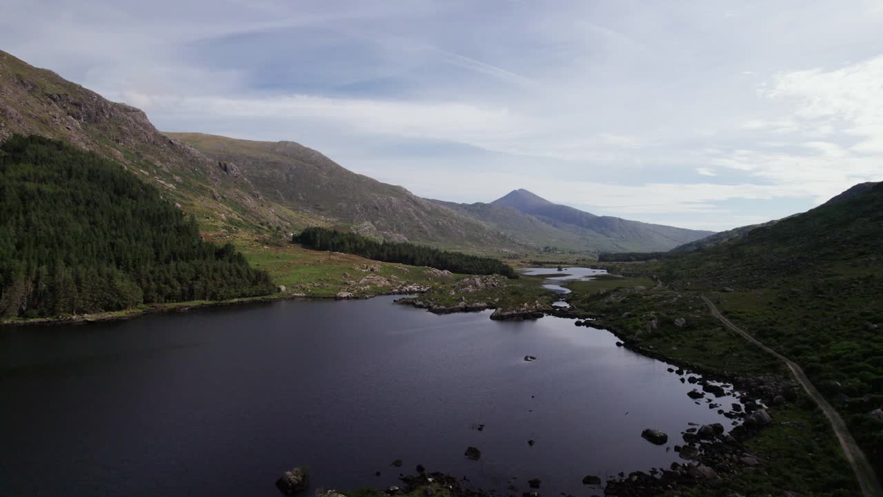
[[[883,468],[883,421],[870,414],[883,408],[881,255],[883,185],[876,185],[698,253],[610,267],[654,275],[693,300],[712,297],[736,325],[799,363]],[[645,323],[630,326],[638,325]],[[675,341],[686,333],[668,330]]]

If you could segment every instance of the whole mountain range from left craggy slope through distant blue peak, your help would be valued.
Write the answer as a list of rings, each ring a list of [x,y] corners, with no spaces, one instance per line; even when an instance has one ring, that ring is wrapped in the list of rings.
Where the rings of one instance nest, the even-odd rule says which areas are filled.
[[[70,141],[136,172],[217,240],[334,226],[474,253],[658,251],[711,232],[595,216],[523,189],[492,203],[427,200],[293,141],[162,133],[147,115],[0,51],[0,141]]]

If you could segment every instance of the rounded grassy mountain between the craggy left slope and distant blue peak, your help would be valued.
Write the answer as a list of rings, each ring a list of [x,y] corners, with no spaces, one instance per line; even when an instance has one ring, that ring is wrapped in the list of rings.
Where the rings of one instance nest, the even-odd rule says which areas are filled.
[[[250,180],[268,201],[320,219],[322,226],[389,241],[416,241],[473,253],[529,250],[492,226],[344,169],[292,141],[248,141],[170,133]]]

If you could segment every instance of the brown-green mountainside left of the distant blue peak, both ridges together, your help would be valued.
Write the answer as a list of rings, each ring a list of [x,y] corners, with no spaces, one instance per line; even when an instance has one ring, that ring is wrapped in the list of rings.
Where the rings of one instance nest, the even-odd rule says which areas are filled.
[[[160,187],[216,240],[306,226],[471,252],[531,248],[474,218],[347,171],[298,143],[162,134],[143,111],[0,51],[0,142],[12,134],[70,141]],[[203,152],[208,153],[203,153]]]

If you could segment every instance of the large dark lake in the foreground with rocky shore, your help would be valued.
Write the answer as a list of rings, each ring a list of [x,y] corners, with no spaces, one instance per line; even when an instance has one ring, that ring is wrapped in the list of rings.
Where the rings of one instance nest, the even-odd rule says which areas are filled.
[[[587,474],[676,459],[646,427],[668,447],[688,421],[730,427],[606,331],[392,300],[0,328],[0,495],[275,496],[295,465],[355,488],[418,463],[486,489],[541,478],[544,494],[591,494]]]

